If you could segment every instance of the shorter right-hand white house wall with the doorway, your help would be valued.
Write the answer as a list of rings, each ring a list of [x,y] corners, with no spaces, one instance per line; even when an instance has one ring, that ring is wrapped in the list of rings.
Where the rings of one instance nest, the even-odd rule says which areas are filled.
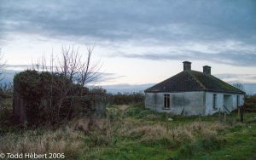
[[[213,94],[216,94],[216,109],[213,109]],[[223,94],[206,92],[206,115],[212,115],[217,111],[224,111],[224,106],[229,111],[234,111],[237,108],[236,96],[239,96],[239,106],[244,103],[244,95],[242,94]]]

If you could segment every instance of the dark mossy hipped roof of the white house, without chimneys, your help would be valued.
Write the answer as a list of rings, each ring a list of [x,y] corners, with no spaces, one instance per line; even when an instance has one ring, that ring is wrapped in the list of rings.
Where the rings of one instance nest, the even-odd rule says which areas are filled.
[[[229,83],[200,71],[182,71],[177,75],[166,79],[145,92],[189,92],[189,91],[209,91],[229,94],[245,94],[240,89],[236,89]]]

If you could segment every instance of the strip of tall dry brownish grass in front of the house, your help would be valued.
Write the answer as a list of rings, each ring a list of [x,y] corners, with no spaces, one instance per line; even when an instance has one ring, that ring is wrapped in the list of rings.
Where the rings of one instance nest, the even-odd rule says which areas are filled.
[[[218,131],[227,129],[223,123],[193,122],[166,127],[164,124],[134,124],[125,122],[117,132],[128,138],[139,139],[142,142],[160,140],[166,138],[170,141],[183,142],[184,140],[195,141],[196,137],[216,136]]]

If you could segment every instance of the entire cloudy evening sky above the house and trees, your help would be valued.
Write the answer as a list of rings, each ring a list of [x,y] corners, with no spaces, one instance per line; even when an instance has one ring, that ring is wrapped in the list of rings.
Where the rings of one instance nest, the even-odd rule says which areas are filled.
[[[145,89],[183,71],[212,75],[256,94],[254,0],[0,0],[6,79],[74,46],[101,61],[107,89]],[[129,88],[129,89],[128,89]]]

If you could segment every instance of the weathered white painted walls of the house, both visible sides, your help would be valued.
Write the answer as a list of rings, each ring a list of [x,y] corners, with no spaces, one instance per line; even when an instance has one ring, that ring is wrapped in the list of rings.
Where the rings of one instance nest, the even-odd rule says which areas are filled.
[[[170,109],[164,108],[164,94],[170,94]],[[213,109],[213,94],[216,94],[216,109]],[[180,92],[180,93],[146,93],[146,108],[173,114],[184,115],[212,115],[215,112],[224,111],[224,95],[226,96],[225,106],[229,111],[236,110],[236,96],[239,95],[240,106],[244,103],[242,94],[223,94],[212,92]]]

